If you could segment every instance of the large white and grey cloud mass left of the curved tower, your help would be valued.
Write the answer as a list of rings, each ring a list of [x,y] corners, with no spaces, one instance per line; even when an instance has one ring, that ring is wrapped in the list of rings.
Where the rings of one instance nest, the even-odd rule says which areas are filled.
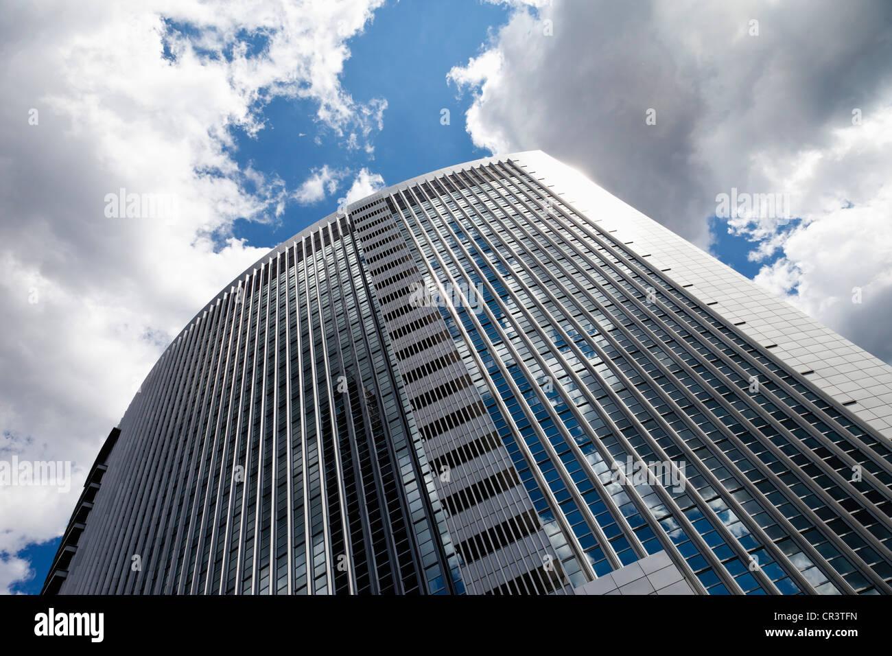
[[[340,74],[383,1],[4,7],[0,460],[71,461],[75,480],[0,488],[0,592],[27,575],[17,552],[61,532],[161,350],[265,251],[233,223],[275,220],[291,195],[235,162],[234,129],[257,134],[285,96],[309,102],[318,138],[370,150],[386,103]]]

